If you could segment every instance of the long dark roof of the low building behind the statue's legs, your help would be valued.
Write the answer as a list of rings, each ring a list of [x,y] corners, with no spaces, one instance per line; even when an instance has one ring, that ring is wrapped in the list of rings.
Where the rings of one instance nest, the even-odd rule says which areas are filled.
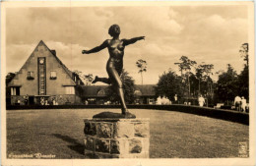
[[[135,90],[140,90],[139,96],[154,96],[156,95],[155,86],[156,84],[135,85]],[[85,97],[104,97],[108,85],[84,85],[82,87]],[[102,91],[99,92],[99,90]]]

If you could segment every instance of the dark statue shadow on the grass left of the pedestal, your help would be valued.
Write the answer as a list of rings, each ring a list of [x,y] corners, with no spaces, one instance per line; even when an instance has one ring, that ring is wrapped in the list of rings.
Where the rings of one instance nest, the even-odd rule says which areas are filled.
[[[63,136],[60,134],[52,134],[52,136],[54,136],[56,138],[61,138],[62,140],[72,143],[72,145],[68,145],[68,147],[70,149],[84,155],[84,149],[85,149],[84,144],[81,144],[77,139],[70,138],[69,136]]]

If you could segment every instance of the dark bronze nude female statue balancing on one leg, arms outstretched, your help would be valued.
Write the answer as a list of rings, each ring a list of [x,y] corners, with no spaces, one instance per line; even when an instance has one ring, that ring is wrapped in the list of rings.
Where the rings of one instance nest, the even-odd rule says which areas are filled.
[[[106,63],[106,72],[109,78],[98,78],[96,76],[96,79],[93,83],[101,82],[114,84],[117,94],[120,97],[122,114],[126,118],[131,118],[132,114],[128,112],[124,101],[123,83],[120,79],[120,75],[123,69],[124,48],[125,46],[133,44],[138,40],[145,39],[145,36],[134,37],[131,39],[119,39],[120,28],[118,25],[112,25],[108,29],[108,33],[113,37],[112,39],[106,39],[101,45],[96,46],[91,50],[83,50],[82,54],[91,54],[98,52],[106,47],[108,48],[109,59]]]

